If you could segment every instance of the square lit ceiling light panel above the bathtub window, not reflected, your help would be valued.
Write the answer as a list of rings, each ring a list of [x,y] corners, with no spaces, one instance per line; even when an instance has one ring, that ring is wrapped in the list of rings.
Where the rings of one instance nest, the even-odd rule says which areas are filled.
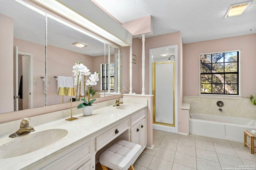
[[[230,6],[225,18],[242,15],[250,3],[251,2],[244,2],[242,4],[235,4]]]

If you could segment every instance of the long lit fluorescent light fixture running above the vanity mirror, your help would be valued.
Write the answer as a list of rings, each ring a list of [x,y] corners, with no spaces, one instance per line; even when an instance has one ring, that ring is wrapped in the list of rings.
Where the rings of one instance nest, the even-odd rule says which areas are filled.
[[[128,46],[128,44],[121,39],[115,37],[105,29],[101,28],[100,26],[94,24],[92,21],[88,20],[85,16],[81,16],[75,11],[68,8],[68,6],[64,6],[63,4],[57,2],[56,0],[34,0],[46,8],[49,8],[50,10],[53,10],[54,12],[57,12],[58,14],[70,19],[71,21],[74,21],[75,23],[78,23],[79,25],[82,25],[86,29],[89,29],[90,31],[93,31],[94,33],[113,41],[117,44],[119,44],[122,47]]]

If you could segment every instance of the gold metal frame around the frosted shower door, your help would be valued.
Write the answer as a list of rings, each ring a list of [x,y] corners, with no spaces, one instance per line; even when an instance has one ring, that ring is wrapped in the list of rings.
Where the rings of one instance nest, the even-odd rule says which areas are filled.
[[[173,64],[173,70],[172,70],[173,74],[172,74],[172,78],[170,79],[171,81],[173,81],[173,89],[170,89],[172,94],[173,94],[173,122],[172,123],[166,123],[166,122],[156,120],[156,107],[157,107],[156,106],[156,99],[159,100],[158,95],[156,94],[156,91],[157,91],[159,85],[156,84],[156,81],[159,78],[161,79],[161,76],[164,77],[164,78],[162,78],[162,80],[163,79],[166,80],[167,78],[171,77],[171,76],[168,76],[170,74],[169,74],[169,72],[167,72],[167,70],[165,70],[165,72],[162,72],[162,74],[159,76],[159,73],[156,70],[156,67],[160,66],[161,64]],[[161,66],[163,66],[163,68],[164,68],[166,65],[161,65]],[[156,75],[158,75],[158,77],[156,77]],[[174,127],[175,126],[175,86],[174,86],[175,85],[175,62],[172,61],[172,62],[164,62],[164,63],[152,63],[152,76],[153,76],[152,77],[152,94],[154,95],[153,96],[153,124],[159,124],[159,125],[166,125],[166,126]],[[162,83],[164,83],[164,82],[162,82]],[[160,88],[163,88],[163,85],[164,84],[162,84],[162,86]],[[164,100],[164,99],[162,99],[162,100]],[[164,101],[164,102],[166,102],[166,101]],[[163,104],[164,104],[164,102],[163,102]],[[160,104],[162,104],[162,102]],[[169,105],[170,105],[170,103],[169,103]]]

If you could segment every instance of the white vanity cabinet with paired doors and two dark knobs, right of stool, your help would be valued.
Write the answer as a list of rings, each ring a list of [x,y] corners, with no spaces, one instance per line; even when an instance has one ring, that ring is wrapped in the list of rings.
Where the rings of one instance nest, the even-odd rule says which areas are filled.
[[[130,141],[132,143],[140,144],[142,150],[146,148],[146,109],[138,111],[131,117]]]

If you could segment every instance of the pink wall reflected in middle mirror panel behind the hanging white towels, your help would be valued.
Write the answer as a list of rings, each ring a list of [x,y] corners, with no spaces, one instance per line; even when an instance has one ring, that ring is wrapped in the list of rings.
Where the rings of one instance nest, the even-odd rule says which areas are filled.
[[[50,45],[47,46],[47,74],[50,76],[50,84],[48,84],[47,87],[47,105],[62,103],[62,96],[57,95],[57,81],[54,76],[72,76],[74,83],[72,70],[76,61],[82,61],[90,72],[94,72],[93,57]],[[88,76],[86,76],[86,78],[88,78]],[[84,79],[82,79],[81,93],[83,93],[84,90],[83,80]],[[76,88],[76,86],[74,87]],[[64,96],[64,103],[69,101],[70,96]]]

